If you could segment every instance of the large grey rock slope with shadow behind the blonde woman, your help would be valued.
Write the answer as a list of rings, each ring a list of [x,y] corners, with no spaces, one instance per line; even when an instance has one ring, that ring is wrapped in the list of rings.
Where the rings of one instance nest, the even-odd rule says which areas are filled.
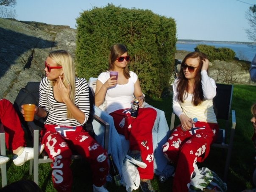
[[[0,18],[0,98],[14,102],[28,81],[41,81],[51,50],[75,57],[76,30],[64,25]]]

